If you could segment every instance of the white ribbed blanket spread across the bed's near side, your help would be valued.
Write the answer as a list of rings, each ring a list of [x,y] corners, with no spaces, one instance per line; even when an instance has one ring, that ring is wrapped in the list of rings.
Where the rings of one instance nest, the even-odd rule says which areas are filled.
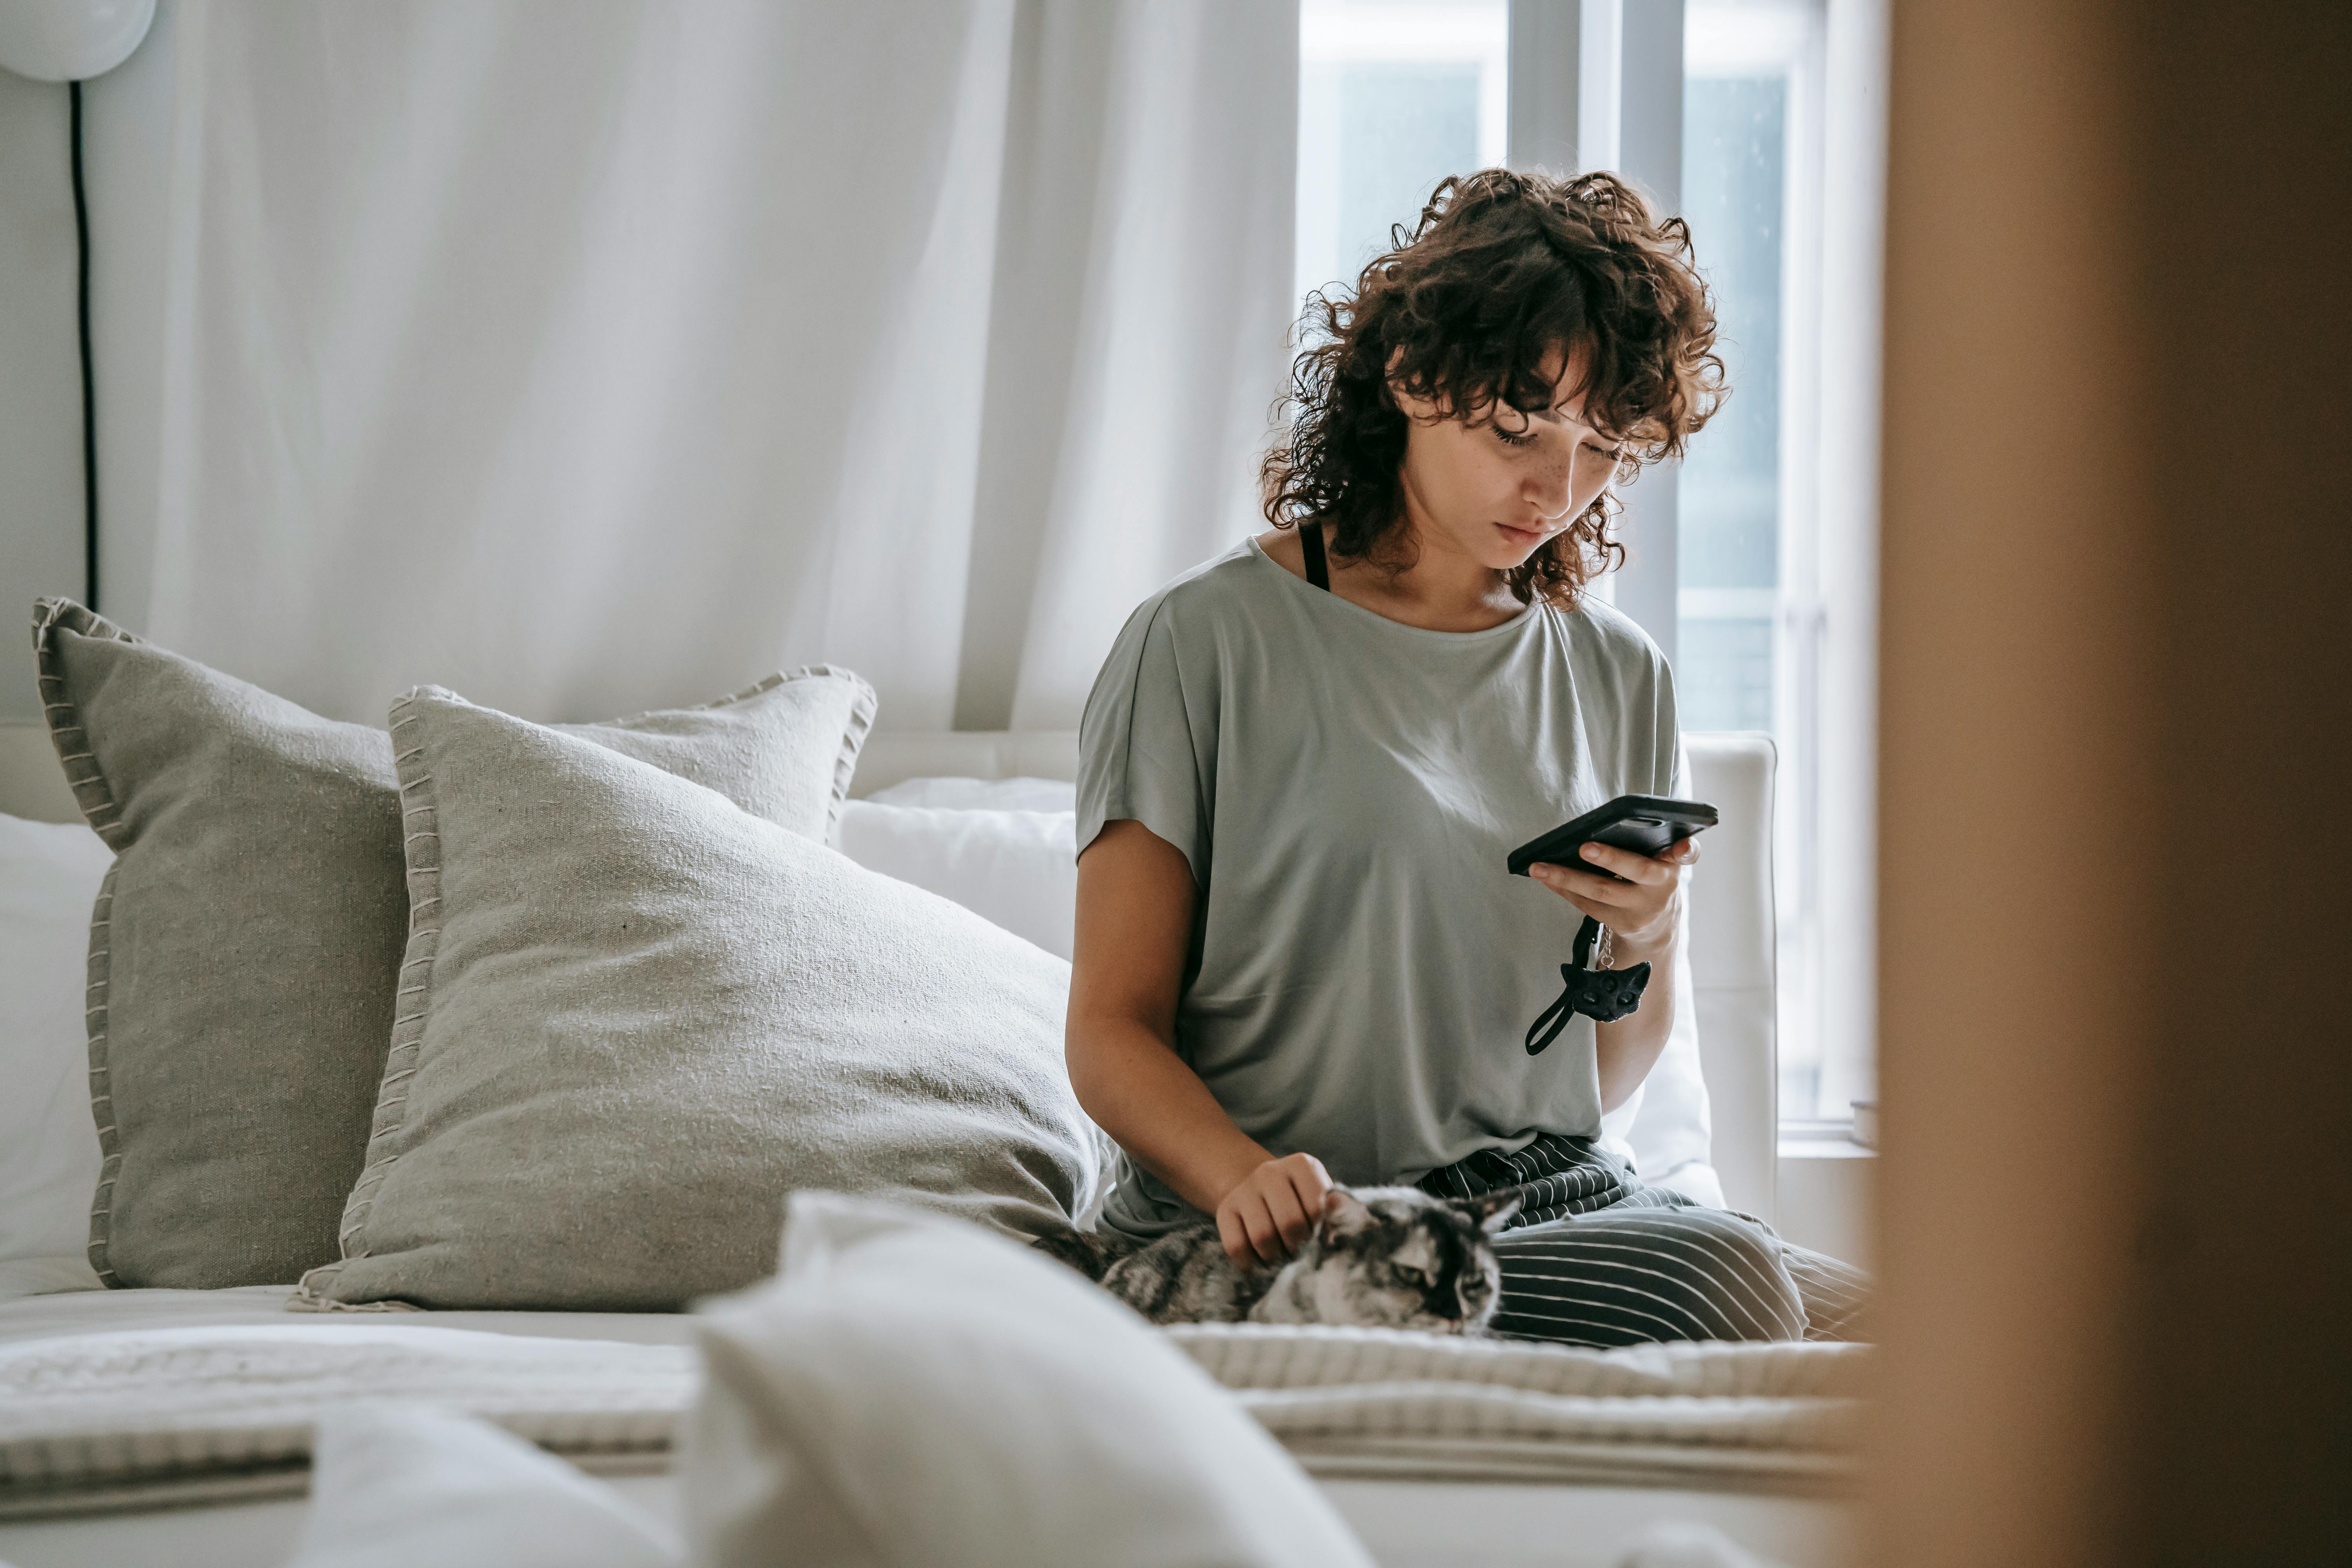
[[[139,1298],[160,1295],[179,1298],[179,1324],[141,1324],[167,1302]],[[485,1415],[590,1469],[663,1467],[699,1378],[684,1316],[320,1321],[287,1319],[285,1291],[35,1300],[0,1309],[0,1516],[296,1495],[315,1413],[376,1396]],[[1169,1333],[1319,1476],[1837,1488],[1867,1359],[1853,1345]]]

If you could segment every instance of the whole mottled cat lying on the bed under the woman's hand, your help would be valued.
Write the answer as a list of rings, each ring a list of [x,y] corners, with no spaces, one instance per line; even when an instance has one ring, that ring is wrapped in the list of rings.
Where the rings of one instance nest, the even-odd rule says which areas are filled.
[[[1202,1220],[1143,1246],[1110,1234],[1040,1241],[1155,1324],[1345,1324],[1484,1333],[1501,1291],[1494,1234],[1519,1190],[1437,1199],[1418,1187],[1334,1187],[1279,1267],[1242,1269]]]

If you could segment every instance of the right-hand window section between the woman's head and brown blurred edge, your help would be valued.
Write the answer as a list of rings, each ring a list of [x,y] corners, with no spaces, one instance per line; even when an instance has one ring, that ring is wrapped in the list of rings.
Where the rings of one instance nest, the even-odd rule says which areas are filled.
[[[1818,842],[1820,42],[1806,0],[1689,0],[1684,12],[1682,212],[1733,395],[1682,468],[1675,675],[1689,729],[1764,729],[1780,752],[1785,1121],[1842,1121],[1858,1098],[1856,1074],[1830,1060]]]

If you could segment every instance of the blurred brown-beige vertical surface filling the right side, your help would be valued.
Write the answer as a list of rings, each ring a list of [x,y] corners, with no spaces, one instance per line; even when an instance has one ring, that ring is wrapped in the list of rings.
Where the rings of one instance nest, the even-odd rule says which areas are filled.
[[[1893,9],[1882,1563],[2352,1556],[2352,5]]]

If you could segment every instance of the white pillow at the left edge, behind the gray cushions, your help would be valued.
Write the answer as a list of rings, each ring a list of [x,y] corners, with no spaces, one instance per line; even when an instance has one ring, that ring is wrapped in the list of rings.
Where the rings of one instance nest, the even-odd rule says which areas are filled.
[[[80,823],[0,816],[0,1298],[99,1288],[82,976],[108,865]]]

